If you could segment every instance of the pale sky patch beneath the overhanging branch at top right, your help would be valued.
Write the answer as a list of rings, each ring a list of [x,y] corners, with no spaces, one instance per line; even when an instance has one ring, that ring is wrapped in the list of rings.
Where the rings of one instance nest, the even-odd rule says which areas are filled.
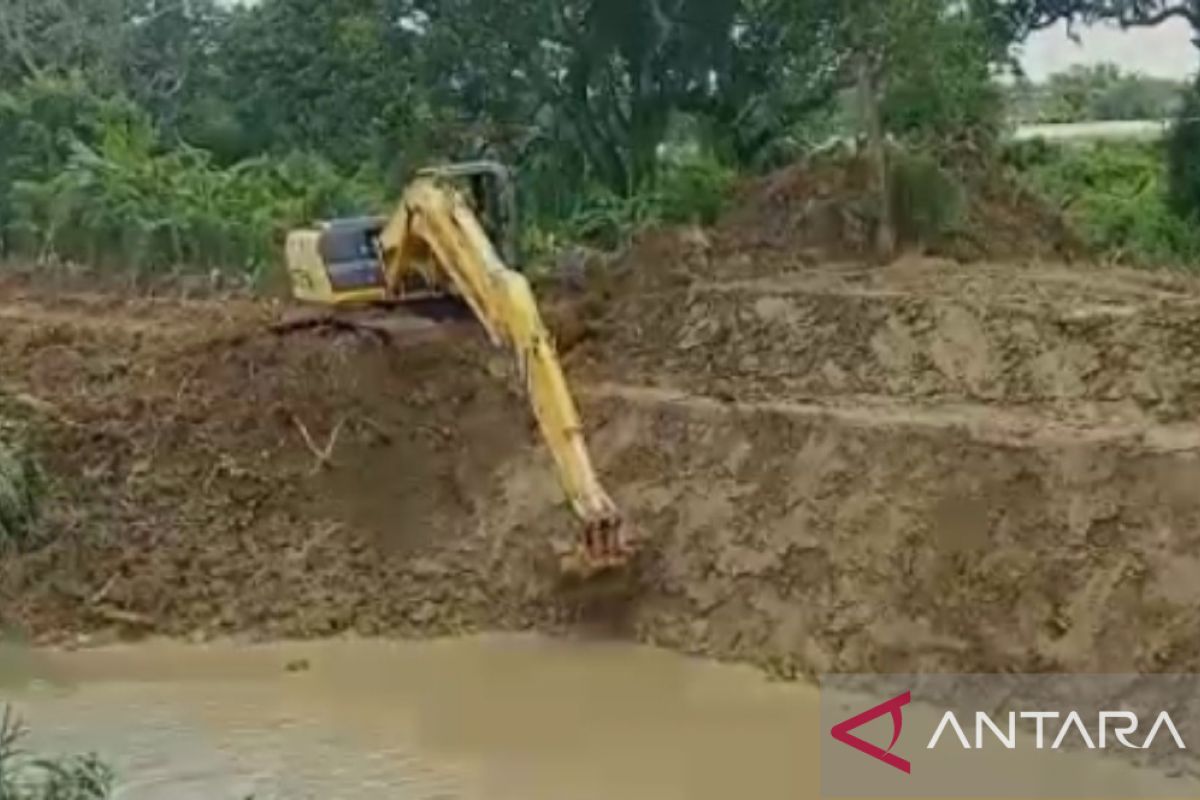
[[[1034,34],[1021,58],[1030,77],[1040,80],[1075,64],[1104,61],[1160,78],[1186,78],[1200,68],[1200,49],[1192,43],[1192,28],[1178,19],[1158,28],[1122,31],[1103,25],[1078,32],[1078,44],[1068,38],[1064,24]]]

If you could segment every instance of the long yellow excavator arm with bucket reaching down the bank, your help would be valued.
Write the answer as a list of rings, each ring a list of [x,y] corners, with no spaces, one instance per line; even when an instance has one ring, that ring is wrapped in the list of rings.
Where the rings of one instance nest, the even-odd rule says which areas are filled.
[[[409,185],[378,242],[391,296],[401,295],[418,273],[426,285],[461,296],[492,343],[516,355],[559,481],[583,521],[580,547],[564,559],[568,571],[590,575],[622,566],[629,557],[629,536],[592,465],[575,401],[529,282],[504,264],[466,199],[436,178],[418,178]]]

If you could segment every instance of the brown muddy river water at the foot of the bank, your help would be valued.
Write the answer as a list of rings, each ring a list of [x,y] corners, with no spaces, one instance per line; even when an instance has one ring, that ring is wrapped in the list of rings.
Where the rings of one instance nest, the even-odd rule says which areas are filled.
[[[815,687],[628,644],[0,648],[2,703],[31,750],[108,760],[122,800],[820,794]],[[1075,789],[1086,776],[1098,794],[1136,796],[1158,780],[1079,758],[1062,772]]]

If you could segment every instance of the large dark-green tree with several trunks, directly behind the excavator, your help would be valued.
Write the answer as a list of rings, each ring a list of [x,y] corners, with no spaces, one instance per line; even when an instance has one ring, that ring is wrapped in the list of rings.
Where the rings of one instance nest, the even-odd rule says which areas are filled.
[[[678,114],[710,121],[710,144],[749,162],[830,96],[836,73],[829,4],[816,0],[448,0],[421,12],[426,74],[454,106],[618,194],[654,185]]]

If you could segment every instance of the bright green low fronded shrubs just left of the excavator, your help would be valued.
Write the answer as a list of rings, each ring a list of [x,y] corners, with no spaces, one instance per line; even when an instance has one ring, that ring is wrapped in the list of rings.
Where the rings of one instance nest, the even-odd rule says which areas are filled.
[[[288,228],[374,204],[314,156],[221,169],[186,145],[160,152],[148,126],[113,124],[95,148],[74,140],[56,175],[16,185],[13,229],[38,257],[257,277],[280,259]]]

